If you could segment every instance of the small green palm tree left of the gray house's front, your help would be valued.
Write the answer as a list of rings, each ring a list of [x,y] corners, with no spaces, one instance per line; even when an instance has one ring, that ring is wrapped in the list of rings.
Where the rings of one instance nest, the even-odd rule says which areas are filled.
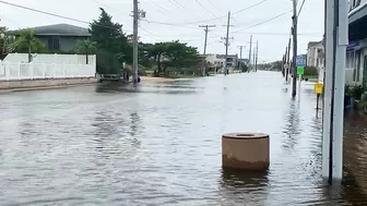
[[[47,51],[46,45],[36,38],[34,29],[23,29],[20,32],[19,37],[10,46],[17,52],[28,52],[28,62],[32,61],[32,52],[45,52]]]

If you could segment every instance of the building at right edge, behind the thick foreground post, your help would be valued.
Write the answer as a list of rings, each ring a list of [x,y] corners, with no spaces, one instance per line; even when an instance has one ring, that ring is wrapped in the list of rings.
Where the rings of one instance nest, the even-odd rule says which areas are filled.
[[[345,82],[367,86],[367,0],[350,0]]]

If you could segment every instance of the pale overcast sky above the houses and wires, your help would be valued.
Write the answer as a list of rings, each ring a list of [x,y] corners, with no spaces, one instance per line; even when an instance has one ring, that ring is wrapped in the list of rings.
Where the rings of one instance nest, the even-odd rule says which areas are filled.
[[[81,21],[91,22],[104,8],[113,21],[123,24],[126,33],[132,32],[132,0],[4,0]],[[263,2],[262,2],[263,1]],[[298,8],[303,0],[298,0]],[[238,12],[256,3],[260,4]],[[179,39],[203,51],[204,31],[199,25],[215,25],[211,28],[206,53],[224,53],[221,37],[226,35],[227,13],[230,19],[229,53],[238,53],[238,46],[248,58],[250,35],[259,41],[259,59],[280,60],[285,51],[292,23],[291,0],[140,0],[140,9],[146,11],[145,20],[140,22],[140,36],[143,41],[168,41]],[[323,1],[306,0],[298,22],[298,52],[306,53],[308,41],[321,40],[323,34]],[[284,15],[283,13],[287,12]],[[281,15],[281,16],[280,16]],[[272,21],[268,21],[272,17]],[[48,16],[33,11],[0,3],[1,26],[11,29],[34,27],[57,23],[68,23],[87,27],[87,24]],[[268,21],[268,22],[267,22]],[[265,22],[265,23],[263,23]],[[253,45],[254,46],[254,45]],[[246,53],[246,54],[245,54]]]

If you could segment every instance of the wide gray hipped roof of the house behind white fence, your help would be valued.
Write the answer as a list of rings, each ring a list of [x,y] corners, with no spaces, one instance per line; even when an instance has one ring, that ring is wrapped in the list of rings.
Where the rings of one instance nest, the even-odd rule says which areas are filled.
[[[12,31],[10,33],[16,35],[19,32],[23,29]],[[37,36],[80,36],[80,37],[91,36],[87,28],[70,24],[54,24],[47,26],[37,26],[37,27],[31,27],[29,29],[34,29]]]

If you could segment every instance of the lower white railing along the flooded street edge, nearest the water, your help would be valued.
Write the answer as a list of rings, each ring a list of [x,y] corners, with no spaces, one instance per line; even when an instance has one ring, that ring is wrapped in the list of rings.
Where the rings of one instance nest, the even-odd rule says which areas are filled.
[[[95,77],[95,64],[0,62],[0,81]]]

